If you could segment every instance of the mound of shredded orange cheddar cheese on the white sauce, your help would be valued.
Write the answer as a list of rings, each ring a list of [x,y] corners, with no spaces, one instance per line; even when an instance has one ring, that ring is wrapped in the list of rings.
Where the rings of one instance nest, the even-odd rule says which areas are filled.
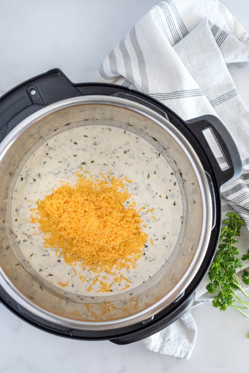
[[[44,247],[94,272],[134,267],[148,235],[140,226],[141,209],[136,211],[135,201],[125,203],[131,197],[125,183],[131,181],[110,172],[107,178],[101,173],[102,179],[79,171],[76,176],[75,185],[63,184],[37,201],[31,222],[39,223]]]

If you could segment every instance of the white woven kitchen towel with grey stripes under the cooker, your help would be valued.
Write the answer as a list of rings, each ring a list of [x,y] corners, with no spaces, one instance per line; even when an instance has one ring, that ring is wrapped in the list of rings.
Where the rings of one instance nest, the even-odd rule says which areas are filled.
[[[227,63],[249,61],[249,37],[218,0],[161,1],[104,59],[96,81],[130,87],[161,101],[183,119],[218,116],[234,138],[242,159],[240,178],[221,192],[223,214],[236,211],[246,222],[239,251],[249,239],[249,112]],[[223,156],[218,157],[226,166]],[[247,263],[247,266],[249,264]],[[195,305],[212,298],[196,290]],[[215,311],[215,310],[214,310]],[[216,310],[218,312],[218,310]],[[190,313],[142,344],[150,350],[189,359],[196,339]]]

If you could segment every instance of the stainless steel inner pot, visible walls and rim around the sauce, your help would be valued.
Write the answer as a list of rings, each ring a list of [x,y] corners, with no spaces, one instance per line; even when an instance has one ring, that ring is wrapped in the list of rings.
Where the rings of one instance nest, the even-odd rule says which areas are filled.
[[[133,289],[132,295],[127,290],[118,298],[76,298],[53,287],[23,260],[10,234],[11,195],[22,164],[48,138],[74,126],[91,124],[120,127],[154,145],[170,163],[183,198],[182,230],[172,255],[151,279]],[[202,264],[212,225],[205,171],[186,138],[166,118],[141,104],[91,95],[69,98],[39,110],[1,142],[0,175],[0,214],[5,222],[0,230],[0,285],[42,319],[81,330],[108,330],[142,322],[176,300]]]

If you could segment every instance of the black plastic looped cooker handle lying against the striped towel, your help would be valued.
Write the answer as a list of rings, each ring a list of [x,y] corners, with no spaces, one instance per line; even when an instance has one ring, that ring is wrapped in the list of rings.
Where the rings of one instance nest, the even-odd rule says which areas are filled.
[[[212,164],[214,169],[219,188],[224,188],[239,178],[242,172],[242,162],[239,156],[239,151],[233,138],[220,119],[214,115],[203,115],[198,118],[187,120],[185,121],[185,124],[205,148],[209,162]],[[205,129],[211,130],[223,157],[226,159],[228,167],[224,170],[221,169],[204,136],[203,131]]]

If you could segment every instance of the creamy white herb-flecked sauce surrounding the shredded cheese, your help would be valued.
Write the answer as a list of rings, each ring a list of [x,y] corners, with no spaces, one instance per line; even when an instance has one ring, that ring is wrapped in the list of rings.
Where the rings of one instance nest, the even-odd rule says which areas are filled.
[[[97,291],[100,283],[92,280],[96,274],[79,264],[66,264],[51,248],[43,247],[39,225],[28,222],[30,209],[37,200],[51,194],[61,181],[75,184],[75,172],[83,165],[90,175],[100,178],[111,170],[117,178],[127,176],[129,193],[141,211],[143,231],[148,234],[144,254],[129,270],[115,271],[116,275],[98,273],[98,280],[113,283],[122,274],[127,280],[114,282],[110,295],[132,290],[151,278],[166,263],[172,253],[182,226],[182,197],[171,167],[166,159],[149,142],[138,135],[116,127],[89,125],[69,129],[42,144],[23,167],[12,199],[13,233],[19,247],[31,266],[48,282],[67,283],[65,291],[80,295],[108,295]],[[126,203],[129,203],[127,201]],[[146,213],[147,210],[153,211]],[[154,216],[154,217],[152,217]],[[34,232],[39,232],[34,235]],[[151,244],[151,241],[153,245]],[[73,270],[75,269],[75,271]],[[82,282],[82,278],[86,278]],[[88,291],[89,286],[91,290]]]

